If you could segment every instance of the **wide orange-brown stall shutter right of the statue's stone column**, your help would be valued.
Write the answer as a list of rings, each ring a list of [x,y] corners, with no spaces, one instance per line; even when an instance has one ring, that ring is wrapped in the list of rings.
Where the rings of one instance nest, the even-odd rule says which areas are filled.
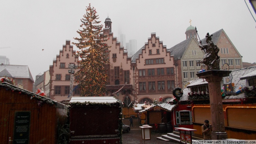
[[[255,108],[227,108],[228,126],[256,130]]]

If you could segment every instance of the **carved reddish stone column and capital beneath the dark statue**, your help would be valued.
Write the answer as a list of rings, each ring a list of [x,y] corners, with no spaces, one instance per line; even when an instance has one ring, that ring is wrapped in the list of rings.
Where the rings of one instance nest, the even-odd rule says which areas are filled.
[[[209,70],[196,74],[199,78],[204,78],[208,82],[212,115],[212,140],[228,138],[224,126],[220,81],[230,73],[231,71],[228,70]]]

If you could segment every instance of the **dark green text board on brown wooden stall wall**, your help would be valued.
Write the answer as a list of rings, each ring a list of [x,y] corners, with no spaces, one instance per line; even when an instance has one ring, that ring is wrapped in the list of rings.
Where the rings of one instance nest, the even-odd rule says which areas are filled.
[[[15,112],[13,144],[29,144],[30,116],[30,111]]]

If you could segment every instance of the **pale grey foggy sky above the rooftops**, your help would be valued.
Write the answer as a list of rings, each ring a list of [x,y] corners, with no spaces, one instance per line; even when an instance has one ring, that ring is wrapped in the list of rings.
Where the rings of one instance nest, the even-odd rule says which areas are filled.
[[[191,19],[200,39],[224,29],[243,62],[256,62],[256,22],[244,0],[1,0],[0,48],[10,48],[0,49],[0,55],[11,65],[28,65],[35,80],[53,64],[66,40],[77,42],[73,37],[78,36],[89,3],[103,26],[107,17],[111,19],[115,37],[122,32],[126,42],[136,39],[137,50],[151,33],[168,49],[179,44],[186,39]],[[74,50],[78,50],[75,45]]]

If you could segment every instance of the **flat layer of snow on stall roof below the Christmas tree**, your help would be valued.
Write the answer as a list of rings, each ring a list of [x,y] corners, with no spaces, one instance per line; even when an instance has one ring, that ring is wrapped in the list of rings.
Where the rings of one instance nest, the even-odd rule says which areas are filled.
[[[96,102],[96,103],[115,103],[114,97],[71,97],[70,102]]]

